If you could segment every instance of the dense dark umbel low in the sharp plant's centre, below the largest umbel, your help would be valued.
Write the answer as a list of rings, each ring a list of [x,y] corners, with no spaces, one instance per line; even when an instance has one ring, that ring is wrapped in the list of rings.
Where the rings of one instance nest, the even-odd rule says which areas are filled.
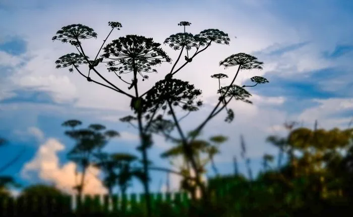
[[[196,89],[194,85],[188,81],[179,79],[161,80],[155,83],[152,89],[144,98],[143,111],[153,113],[159,107],[162,110],[166,109],[165,103],[168,101],[173,106],[180,106],[186,111],[196,111],[197,106],[202,105],[202,101],[196,101],[197,96],[201,95],[202,91]]]

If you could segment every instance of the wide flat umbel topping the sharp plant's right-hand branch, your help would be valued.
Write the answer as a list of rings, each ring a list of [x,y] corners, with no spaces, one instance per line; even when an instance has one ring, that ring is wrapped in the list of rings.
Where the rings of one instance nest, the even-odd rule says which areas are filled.
[[[257,57],[246,53],[237,53],[230,55],[223,61],[219,62],[219,65],[223,65],[224,68],[231,66],[240,66],[240,69],[262,69],[263,62],[257,60]]]

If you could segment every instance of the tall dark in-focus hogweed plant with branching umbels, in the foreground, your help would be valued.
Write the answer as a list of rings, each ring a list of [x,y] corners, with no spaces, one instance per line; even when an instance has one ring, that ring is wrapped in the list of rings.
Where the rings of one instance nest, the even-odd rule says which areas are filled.
[[[236,74],[230,76],[232,77],[232,81],[229,85],[224,87],[220,86],[219,79],[226,78],[227,75],[215,74],[211,76],[218,79],[218,93],[220,94],[218,103],[194,131],[186,134],[182,130],[180,122],[191,112],[200,110],[203,103],[197,98],[201,95],[202,91],[188,81],[183,81],[173,76],[177,72],[180,72],[187,64],[191,64],[192,60],[209,48],[211,44],[229,45],[230,39],[228,34],[218,29],[207,29],[194,35],[186,32],[186,27],[190,26],[191,23],[183,21],[178,25],[184,28],[184,32],[170,35],[164,41],[164,44],[180,52],[177,60],[172,65],[170,72],[165,75],[164,79],[156,82],[153,87],[142,94],[139,92],[138,88],[139,79],[142,81],[149,79],[147,74],[157,72],[155,66],[163,62],[171,63],[171,59],[160,48],[161,44],[154,42],[152,38],[127,35],[107,43],[108,37],[112,31],[120,30],[122,27],[119,22],[108,22],[108,26],[111,30],[94,58],[86,55],[82,45],[83,40],[97,38],[97,34],[90,27],[81,24],[69,25],[57,31],[56,35],[52,38],[52,40],[70,43],[76,49],[76,53],[67,54],[58,58],[55,62],[56,68],[69,67],[70,72],[74,70],[77,71],[86,78],[87,81],[104,86],[131,98],[130,106],[134,115],[122,118],[121,121],[130,124],[137,122],[136,127],[141,139],[141,145],[138,147],[138,150],[142,153],[144,168],[143,185],[146,193],[148,216],[151,216],[151,204],[148,185],[149,161],[147,150],[153,144],[152,134],[161,133],[167,139],[181,143],[183,152],[195,172],[197,185],[201,188],[203,197],[206,198],[207,192],[204,183],[200,180],[202,168],[200,168],[196,162],[192,145],[204,126],[224,108],[227,111],[226,121],[231,122],[233,120],[234,113],[230,108],[227,108],[227,104],[231,99],[251,103],[248,99],[251,94],[245,89],[247,86],[241,87],[236,85],[234,81],[240,73],[240,70],[262,69],[263,65],[263,62],[258,61],[256,57],[245,53],[233,54],[223,61],[220,61],[219,65],[225,68],[233,66],[238,67]],[[105,43],[107,44],[105,45]],[[183,54],[185,55],[184,59],[181,58]],[[103,76],[102,72],[97,68],[97,66],[102,63],[106,64],[107,71],[113,73],[117,80],[120,81],[120,84],[109,81]],[[181,66],[177,67],[178,63],[181,63]],[[84,69],[87,72],[81,70],[79,67],[81,65],[88,66]],[[98,75],[101,81],[93,79],[90,73]],[[255,82],[255,85],[268,82],[265,78],[258,76],[253,77],[251,80]],[[130,89],[134,90],[134,94],[129,93]],[[177,107],[182,108],[182,110],[187,113],[183,118],[177,117],[175,113]],[[171,118],[164,118],[165,116]],[[174,129],[177,130],[179,138],[172,138],[170,136],[170,133]]]

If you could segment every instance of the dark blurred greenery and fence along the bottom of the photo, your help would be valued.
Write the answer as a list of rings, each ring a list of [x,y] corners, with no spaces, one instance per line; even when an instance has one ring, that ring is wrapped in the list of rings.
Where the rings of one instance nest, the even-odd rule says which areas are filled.
[[[265,154],[263,170],[255,179],[239,174],[237,170],[232,175],[210,178],[207,207],[202,198],[183,193],[192,192],[183,185],[182,193],[151,194],[153,216],[349,216],[353,211],[350,205],[353,200],[353,129],[311,130],[286,126],[289,126],[288,136],[269,136],[267,141],[278,147],[279,156],[288,156],[287,161],[273,162],[274,157]],[[247,159],[246,145],[243,146],[243,156]],[[34,185],[25,188],[17,199],[2,194],[3,216],[13,216],[12,208],[24,216],[26,213],[36,213],[36,216],[49,216],[49,213],[50,216],[145,216],[145,195],[122,194],[128,181],[119,178],[123,176],[127,177],[123,180],[130,180],[136,171],[141,173],[141,167],[122,170],[122,165],[131,165],[136,158],[128,154],[115,157],[111,162],[125,162],[116,163],[117,170],[114,170],[116,179],[112,185],[120,186],[119,194],[109,191],[102,201],[98,201],[99,196],[85,195],[72,210],[74,198],[70,195],[55,187]],[[101,162],[101,166],[109,161],[97,162]],[[103,171],[106,177],[111,175],[107,170]],[[103,183],[107,183],[106,179]],[[107,205],[109,198],[113,202],[111,207]]]

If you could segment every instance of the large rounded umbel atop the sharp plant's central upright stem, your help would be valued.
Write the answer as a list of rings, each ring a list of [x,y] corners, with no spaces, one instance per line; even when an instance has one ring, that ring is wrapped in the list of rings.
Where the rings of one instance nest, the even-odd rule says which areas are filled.
[[[121,74],[136,70],[143,76],[141,72],[157,72],[151,66],[171,61],[159,46],[152,38],[127,35],[107,44],[102,57],[109,60],[109,71]]]

